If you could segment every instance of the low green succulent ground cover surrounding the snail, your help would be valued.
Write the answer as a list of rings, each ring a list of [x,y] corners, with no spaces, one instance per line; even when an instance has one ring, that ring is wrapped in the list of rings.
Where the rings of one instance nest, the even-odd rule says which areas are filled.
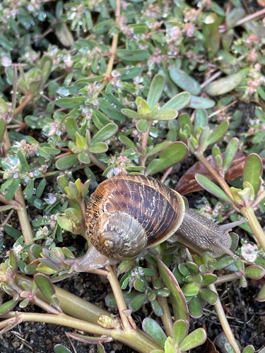
[[[264,348],[264,6],[1,1],[1,352]],[[120,174],[239,221],[230,254],[172,238],[84,265],[90,195]]]

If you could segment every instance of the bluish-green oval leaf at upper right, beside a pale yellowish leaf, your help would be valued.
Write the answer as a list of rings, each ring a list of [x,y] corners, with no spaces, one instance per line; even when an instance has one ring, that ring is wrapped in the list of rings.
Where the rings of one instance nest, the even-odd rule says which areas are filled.
[[[170,69],[170,77],[182,90],[189,92],[191,95],[199,95],[201,86],[199,83],[178,67]]]

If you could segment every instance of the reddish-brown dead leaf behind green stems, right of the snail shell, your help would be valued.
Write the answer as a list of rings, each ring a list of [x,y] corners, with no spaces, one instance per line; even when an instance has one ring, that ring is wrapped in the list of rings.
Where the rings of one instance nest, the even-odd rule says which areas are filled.
[[[232,180],[242,175],[246,158],[247,156],[244,153],[236,153],[235,160],[232,161],[230,168],[225,173],[225,180]],[[209,164],[211,164],[212,167],[216,167],[212,155],[209,155],[206,160]],[[177,187],[175,190],[178,193],[181,193],[182,195],[202,190],[201,186],[199,186],[199,184],[197,184],[195,180],[196,173],[202,174],[208,179],[213,179],[212,175],[210,174],[210,172],[208,172],[206,167],[204,167],[201,162],[196,162],[192,167],[187,170],[184,175],[182,175],[182,177],[179,179],[179,182],[177,183]]]

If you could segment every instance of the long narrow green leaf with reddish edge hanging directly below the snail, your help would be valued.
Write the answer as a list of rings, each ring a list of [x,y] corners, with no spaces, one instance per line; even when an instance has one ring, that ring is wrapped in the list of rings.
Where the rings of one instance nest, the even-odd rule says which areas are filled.
[[[172,274],[170,269],[167,268],[167,266],[160,260],[158,260],[158,268],[160,277],[163,278],[165,287],[170,289],[170,300],[172,302],[172,309],[174,312],[175,320],[177,321],[182,319],[184,321],[189,321],[187,302],[175,276]]]

